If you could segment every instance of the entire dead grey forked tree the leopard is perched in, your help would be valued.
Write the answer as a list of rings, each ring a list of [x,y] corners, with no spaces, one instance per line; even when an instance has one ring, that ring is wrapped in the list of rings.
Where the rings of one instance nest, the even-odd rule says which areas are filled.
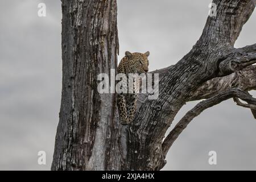
[[[61,2],[63,89],[52,170],[159,170],[171,144],[204,109],[238,97],[255,110],[255,99],[245,91],[256,88],[255,65],[250,66],[256,44],[233,47],[255,0],[213,1],[217,16],[207,19],[200,39],[177,64],[155,71],[159,98],[141,94],[131,126],[119,124],[115,94],[97,92],[98,74],[110,77],[117,67],[116,0]],[[202,98],[209,100],[164,139],[185,102]]]

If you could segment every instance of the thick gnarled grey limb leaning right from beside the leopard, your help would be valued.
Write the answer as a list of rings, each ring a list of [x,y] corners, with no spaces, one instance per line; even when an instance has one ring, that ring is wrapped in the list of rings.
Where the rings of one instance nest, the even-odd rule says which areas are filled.
[[[159,83],[159,98],[144,101],[135,115],[131,143],[127,147],[131,169],[161,169],[166,163],[162,151],[164,135],[177,111],[189,100],[189,93],[205,81],[242,69],[230,69],[226,53],[234,50],[234,42],[253,12],[255,1],[213,3],[217,5],[217,16],[208,17],[203,34],[192,50],[168,68]],[[243,57],[236,59],[243,61]],[[253,64],[251,60],[248,62]]]

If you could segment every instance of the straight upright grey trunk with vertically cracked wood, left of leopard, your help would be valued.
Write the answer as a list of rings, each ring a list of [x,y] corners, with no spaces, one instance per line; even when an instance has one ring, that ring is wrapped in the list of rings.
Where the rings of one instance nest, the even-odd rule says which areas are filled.
[[[51,169],[102,170],[118,125],[115,94],[99,94],[97,76],[117,67],[117,4],[61,3],[63,88]]]

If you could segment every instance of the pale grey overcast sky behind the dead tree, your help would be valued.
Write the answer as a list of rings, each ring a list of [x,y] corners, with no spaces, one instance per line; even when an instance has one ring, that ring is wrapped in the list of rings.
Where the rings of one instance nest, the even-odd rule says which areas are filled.
[[[38,16],[38,3],[47,16]],[[118,0],[120,55],[150,51],[150,71],[175,64],[199,39],[208,16],[205,0]],[[51,167],[61,96],[59,0],[0,1],[0,169]],[[256,42],[256,13],[236,47]],[[256,96],[255,92],[251,92]],[[172,127],[196,102],[177,114]],[[39,166],[38,151],[47,164]],[[208,152],[217,152],[209,165]],[[256,120],[232,100],[195,118],[176,140],[164,169],[256,169]]]

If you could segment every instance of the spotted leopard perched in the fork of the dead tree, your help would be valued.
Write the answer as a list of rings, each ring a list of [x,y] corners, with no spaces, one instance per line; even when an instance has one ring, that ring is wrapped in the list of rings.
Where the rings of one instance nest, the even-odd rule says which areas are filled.
[[[126,51],[125,56],[118,64],[117,73],[124,73],[127,78],[129,77],[130,73],[138,73],[138,75],[142,73],[146,74],[148,72],[149,55],[149,51],[145,53],[131,53]],[[134,114],[137,109],[137,93],[139,86],[141,86],[141,81],[135,81],[134,79],[133,82],[134,90],[132,93],[121,92],[117,94],[117,106],[122,125],[130,125],[134,119]]]

